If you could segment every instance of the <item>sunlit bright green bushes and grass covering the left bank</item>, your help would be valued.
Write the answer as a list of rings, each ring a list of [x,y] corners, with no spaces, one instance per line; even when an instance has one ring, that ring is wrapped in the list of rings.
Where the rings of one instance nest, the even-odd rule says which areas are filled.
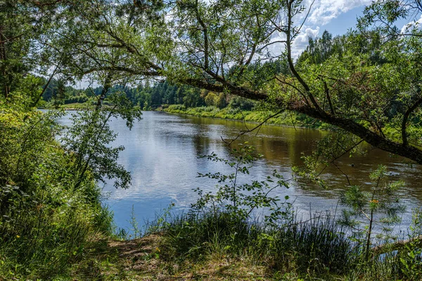
[[[70,276],[95,237],[113,233],[101,188],[89,172],[75,182],[57,115],[1,103],[0,112],[0,280]]]

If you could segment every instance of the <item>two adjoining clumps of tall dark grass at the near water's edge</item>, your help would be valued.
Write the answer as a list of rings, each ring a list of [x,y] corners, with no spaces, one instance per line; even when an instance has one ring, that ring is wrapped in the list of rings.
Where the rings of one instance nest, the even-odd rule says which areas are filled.
[[[244,221],[221,209],[207,209],[174,216],[162,231],[164,259],[248,256],[275,271],[345,273],[357,250],[331,216],[293,219],[279,228],[267,228],[258,220]]]

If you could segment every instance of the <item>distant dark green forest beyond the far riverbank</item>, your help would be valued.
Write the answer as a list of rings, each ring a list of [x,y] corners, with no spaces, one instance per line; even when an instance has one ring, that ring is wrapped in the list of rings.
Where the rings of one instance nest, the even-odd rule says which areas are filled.
[[[356,37],[362,37],[362,35],[347,34],[333,37],[331,33],[324,31],[321,37],[315,39],[309,37],[309,44],[296,60],[296,67],[300,70],[309,64],[320,65],[333,55],[341,58],[350,48],[358,49],[357,51],[360,53],[368,53],[369,60],[373,61],[373,63],[387,63],[383,61],[382,55],[378,51],[381,39],[377,37],[372,37],[371,39]],[[352,44],[352,41],[358,41],[360,44]],[[264,74],[262,74],[262,69],[266,70]],[[267,60],[264,63],[257,61],[248,66],[248,84],[260,89],[267,82],[269,75],[288,75],[289,71],[287,63],[282,60]],[[228,75],[235,72],[236,69],[231,69]],[[72,86],[66,86],[60,80],[53,79],[44,92],[43,99],[49,103],[49,107],[58,107],[63,104],[70,105],[72,103],[96,104],[96,97],[101,96],[101,91],[103,91],[102,86],[75,89]],[[124,93],[134,106],[139,106],[142,110],[155,110],[158,107],[167,107],[169,105],[184,105],[185,107],[214,106],[219,109],[230,106],[241,110],[252,110],[256,105],[255,101],[239,96],[229,96],[225,93],[215,93],[182,84],[171,84],[169,81],[145,81],[137,86],[117,84],[108,90],[107,96],[116,92]],[[108,104],[107,98],[104,104]],[[394,103],[392,108],[390,108],[393,111],[390,112],[390,115],[394,115],[400,106],[399,103]]]

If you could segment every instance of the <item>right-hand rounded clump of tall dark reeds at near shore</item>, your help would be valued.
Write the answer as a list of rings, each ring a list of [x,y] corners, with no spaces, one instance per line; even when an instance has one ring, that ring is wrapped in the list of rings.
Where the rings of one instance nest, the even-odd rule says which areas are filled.
[[[288,267],[293,257],[300,271],[345,273],[357,254],[354,243],[330,214],[314,215],[307,221],[295,219],[275,230],[274,236],[271,259],[280,270]]]

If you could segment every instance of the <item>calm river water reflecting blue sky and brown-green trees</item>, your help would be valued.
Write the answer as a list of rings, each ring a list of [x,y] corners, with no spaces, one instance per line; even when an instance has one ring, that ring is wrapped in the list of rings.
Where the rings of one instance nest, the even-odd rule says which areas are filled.
[[[68,124],[69,116],[63,117],[60,122]],[[248,127],[253,126],[248,124]],[[215,190],[217,183],[208,178],[198,178],[198,173],[221,171],[229,174],[232,171],[222,163],[198,156],[215,152],[219,157],[229,157],[229,148],[222,138],[235,138],[245,129],[245,124],[165,112],[143,112],[143,119],[136,122],[131,131],[121,119],[113,119],[110,127],[118,133],[113,145],[126,148],[120,154],[119,163],[132,173],[132,187],[115,189],[110,182],[103,186],[103,190],[108,197],[106,204],[114,212],[117,227],[130,230],[132,208],[136,221],[142,226],[171,203],[175,204],[174,211],[187,209],[197,198],[193,188]],[[290,180],[290,188],[278,188],[273,195],[288,195],[299,214],[307,216],[309,210],[335,211],[347,181],[334,166],[324,172],[327,189],[307,181],[291,180],[291,167],[302,164],[302,152],[309,153],[315,142],[327,133],[314,129],[262,126],[257,134],[242,136],[238,139],[239,143],[248,141],[264,157],[250,169],[250,176],[241,178],[241,181],[264,178],[277,170]],[[396,231],[409,226],[411,209],[421,206],[422,201],[422,169],[411,167],[403,160],[381,150],[369,150],[366,156],[346,156],[336,162],[353,185],[369,188],[369,174],[379,164],[388,166],[391,180],[401,179],[406,183],[399,196],[407,206],[407,213]]]

